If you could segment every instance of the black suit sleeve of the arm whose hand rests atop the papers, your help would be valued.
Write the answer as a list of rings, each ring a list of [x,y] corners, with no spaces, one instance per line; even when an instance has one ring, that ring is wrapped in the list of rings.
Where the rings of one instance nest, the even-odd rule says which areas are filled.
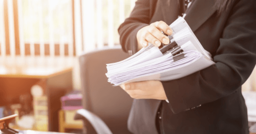
[[[133,54],[137,52],[136,35],[142,27],[149,25],[152,10],[150,8],[151,1],[152,0],[137,0],[130,17],[126,18],[120,25],[118,32],[123,51],[133,51]]]

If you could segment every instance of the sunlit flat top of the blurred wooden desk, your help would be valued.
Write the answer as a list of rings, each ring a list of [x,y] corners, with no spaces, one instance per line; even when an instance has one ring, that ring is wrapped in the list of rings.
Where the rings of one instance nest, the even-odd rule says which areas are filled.
[[[0,57],[0,78],[49,78],[72,71],[74,57]]]

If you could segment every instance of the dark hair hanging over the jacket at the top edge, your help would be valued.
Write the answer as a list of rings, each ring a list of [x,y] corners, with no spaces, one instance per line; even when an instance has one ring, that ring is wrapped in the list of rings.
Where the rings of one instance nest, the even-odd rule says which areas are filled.
[[[216,0],[215,6],[218,9],[218,14],[231,8],[233,1],[234,0]]]

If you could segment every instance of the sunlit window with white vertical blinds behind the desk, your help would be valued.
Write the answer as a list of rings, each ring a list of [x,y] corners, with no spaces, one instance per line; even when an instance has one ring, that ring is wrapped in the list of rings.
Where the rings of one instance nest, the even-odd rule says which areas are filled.
[[[114,47],[134,5],[135,0],[0,0],[0,55],[77,57]],[[74,77],[77,89],[79,81]]]

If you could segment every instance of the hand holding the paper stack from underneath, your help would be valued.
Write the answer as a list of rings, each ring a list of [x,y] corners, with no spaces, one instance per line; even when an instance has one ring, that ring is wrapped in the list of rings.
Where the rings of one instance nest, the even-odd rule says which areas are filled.
[[[136,99],[157,99],[166,100],[165,90],[163,85],[158,80],[148,80],[134,83],[126,83],[120,85],[130,97]]]

